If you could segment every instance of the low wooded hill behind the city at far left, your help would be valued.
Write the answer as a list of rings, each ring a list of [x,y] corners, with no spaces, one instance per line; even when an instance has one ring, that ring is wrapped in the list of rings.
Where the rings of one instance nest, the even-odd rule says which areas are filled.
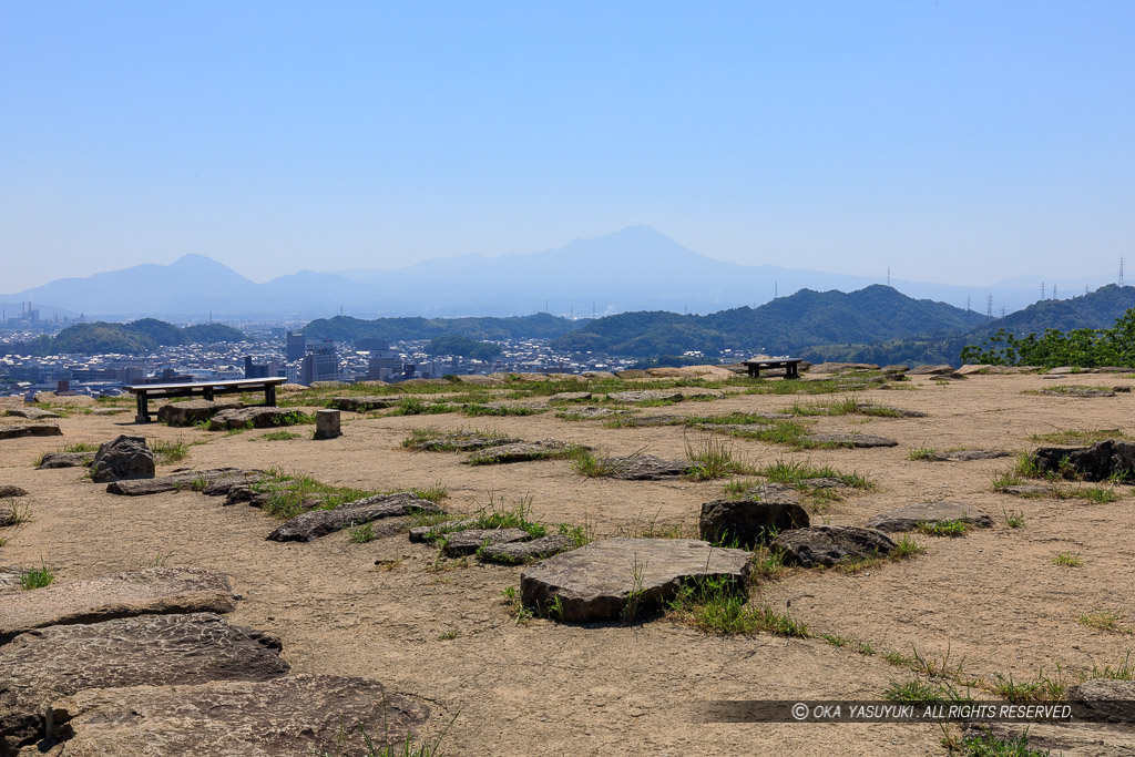
[[[216,344],[241,342],[244,333],[224,323],[199,323],[179,328],[166,321],[143,318],[131,323],[75,323],[56,336],[41,336],[32,342],[9,345],[7,354],[60,355],[145,354],[161,346],[178,344]]]

